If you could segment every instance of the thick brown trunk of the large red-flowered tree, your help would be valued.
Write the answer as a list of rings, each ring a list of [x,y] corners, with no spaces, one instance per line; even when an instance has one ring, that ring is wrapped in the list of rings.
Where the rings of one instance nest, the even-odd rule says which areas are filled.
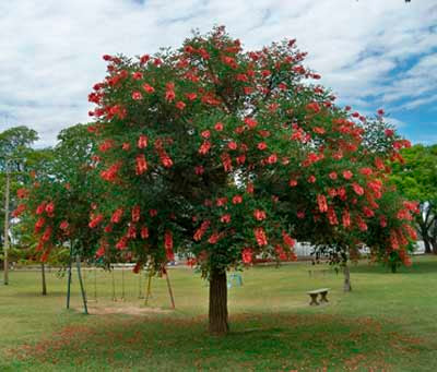
[[[223,336],[228,331],[226,272],[212,269],[210,277],[210,334]]]

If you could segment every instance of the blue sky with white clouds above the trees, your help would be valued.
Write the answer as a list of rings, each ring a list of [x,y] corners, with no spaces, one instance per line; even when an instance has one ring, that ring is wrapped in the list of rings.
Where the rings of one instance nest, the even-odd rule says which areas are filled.
[[[103,55],[154,53],[214,25],[246,50],[296,38],[340,105],[383,108],[413,143],[437,143],[437,0],[2,0],[0,131],[27,125],[52,145],[90,121]]]

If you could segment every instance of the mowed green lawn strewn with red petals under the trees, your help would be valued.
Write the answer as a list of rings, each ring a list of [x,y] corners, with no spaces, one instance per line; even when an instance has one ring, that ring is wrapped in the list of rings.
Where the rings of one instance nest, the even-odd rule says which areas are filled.
[[[113,301],[111,274],[88,271],[87,316],[75,275],[67,311],[66,278],[48,273],[42,297],[39,273],[12,272],[0,286],[0,371],[437,371],[437,257],[398,274],[363,262],[351,293],[342,275],[308,275],[326,268],[245,271],[229,289],[226,337],[206,333],[208,286],[189,268],[169,271],[175,311],[164,278],[145,307],[144,276],[117,271]],[[331,288],[330,303],[309,307],[305,292],[320,287]]]

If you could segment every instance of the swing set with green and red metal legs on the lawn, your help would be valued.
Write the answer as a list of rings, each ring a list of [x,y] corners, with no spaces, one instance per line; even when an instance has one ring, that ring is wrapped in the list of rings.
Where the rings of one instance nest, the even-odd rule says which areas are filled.
[[[70,309],[70,300],[71,300],[71,278],[72,278],[72,261],[73,261],[73,244],[70,242],[70,259],[69,259],[69,266],[68,266],[68,281],[67,281],[67,309]],[[84,286],[84,279],[82,278],[82,271],[81,271],[81,257],[79,253],[75,254],[75,264],[76,264],[76,269],[78,269],[78,277],[79,277],[79,284],[81,288],[81,295],[82,295],[82,302],[83,302],[83,313],[85,315],[88,315],[88,307],[87,307],[87,299],[86,299],[86,291],[85,291],[85,286]],[[113,284],[113,301],[117,301],[116,298],[116,291],[115,291],[115,276],[114,276],[114,265],[111,265],[111,284]],[[121,289],[121,301],[126,301],[125,298],[125,267],[122,266],[122,272],[121,272],[121,280],[122,280],[122,289]],[[152,277],[155,273],[150,269],[149,271],[149,280],[147,280],[147,290],[145,295],[145,300],[144,304],[147,305],[149,299],[152,296]],[[166,277],[166,283],[167,283],[167,289],[168,289],[168,295],[172,301],[172,309],[176,309],[175,305],[175,298],[173,296],[173,289],[172,289],[172,284],[170,279],[168,276],[168,268],[166,265],[162,266],[162,274],[165,275]],[[97,301],[97,276],[96,272],[94,273],[94,300]],[[140,284],[140,289],[139,289],[139,299],[144,298],[141,297],[141,274],[139,277],[139,284]]]

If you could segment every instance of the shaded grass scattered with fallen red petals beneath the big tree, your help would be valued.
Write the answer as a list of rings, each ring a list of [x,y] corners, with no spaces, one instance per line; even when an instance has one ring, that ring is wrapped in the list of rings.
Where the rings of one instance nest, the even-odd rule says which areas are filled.
[[[134,365],[151,370],[390,370],[392,362],[406,360],[406,355],[414,359],[433,348],[401,334],[393,324],[331,314],[237,314],[225,337],[212,337],[205,329],[204,316],[108,317],[98,327],[70,325],[36,345],[10,350],[9,356],[24,364],[67,368],[74,363],[102,370]]]

